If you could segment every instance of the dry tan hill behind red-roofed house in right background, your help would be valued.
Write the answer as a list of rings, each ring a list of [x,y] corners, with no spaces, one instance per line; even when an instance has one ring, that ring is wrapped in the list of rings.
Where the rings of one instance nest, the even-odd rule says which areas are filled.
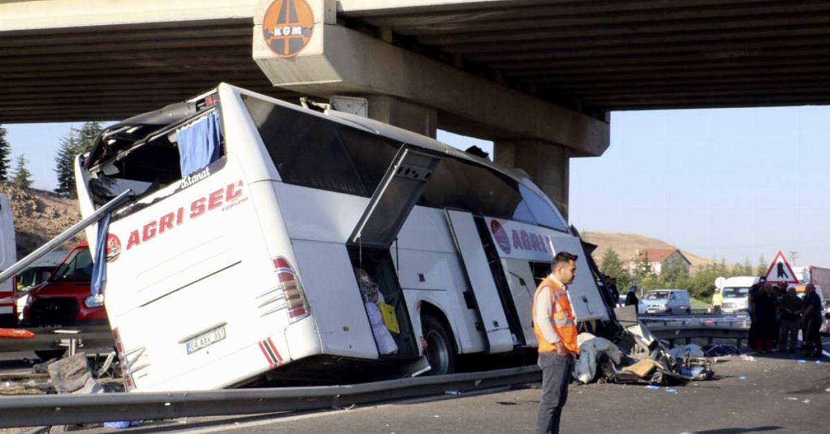
[[[597,264],[602,263],[603,254],[608,249],[614,249],[615,252],[623,261],[623,266],[627,268],[628,261],[634,258],[634,251],[637,249],[677,249],[676,246],[666,243],[660,239],[649,238],[637,234],[613,234],[608,232],[583,232],[582,238],[591,244],[596,244],[598,247],[593,251],[593,259]],[[686,250],[681,249],[681,253],[686,256],[691,262],[691,272],[695,273],[697,269],[706,264],[712,264],[711,259],[701,258],[696,254],[691,254]]]

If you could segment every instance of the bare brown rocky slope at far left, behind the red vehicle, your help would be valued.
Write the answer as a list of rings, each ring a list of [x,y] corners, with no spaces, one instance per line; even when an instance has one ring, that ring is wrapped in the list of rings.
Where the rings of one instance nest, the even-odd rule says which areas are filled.
[[[51,191],[20,189],[10,183],[0,182],[0,193],[7,195],[12,203],[14,229],[17,233],[17,259],[32,253],[81,220],[77,200],[66,199]],[[71,249],[85,239],[81,232],[64,243],[61,249]]]

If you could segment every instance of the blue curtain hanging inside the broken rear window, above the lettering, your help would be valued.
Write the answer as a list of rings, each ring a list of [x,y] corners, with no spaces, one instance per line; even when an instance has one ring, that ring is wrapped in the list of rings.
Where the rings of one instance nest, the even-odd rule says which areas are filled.
[[[219,117],[216,113],[178,131],[178,163],[182,169],[182,177],[219,158],[220,135]]]

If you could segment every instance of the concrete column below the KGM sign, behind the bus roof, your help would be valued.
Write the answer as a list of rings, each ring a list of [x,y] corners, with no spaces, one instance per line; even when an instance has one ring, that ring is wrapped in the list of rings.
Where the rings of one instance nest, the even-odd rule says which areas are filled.
[[[362,96],[369,101],[370,118],[435,138],[438,116],[434,108],[420,106],[396,96]]]

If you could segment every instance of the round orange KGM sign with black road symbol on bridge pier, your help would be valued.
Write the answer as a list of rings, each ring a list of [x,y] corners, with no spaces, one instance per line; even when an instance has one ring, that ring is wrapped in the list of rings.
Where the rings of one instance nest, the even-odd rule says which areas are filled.
[[[275,0],[265,11],[262,37],[279,57],[294,57],[311,39],[314,13],[305,0]]]

